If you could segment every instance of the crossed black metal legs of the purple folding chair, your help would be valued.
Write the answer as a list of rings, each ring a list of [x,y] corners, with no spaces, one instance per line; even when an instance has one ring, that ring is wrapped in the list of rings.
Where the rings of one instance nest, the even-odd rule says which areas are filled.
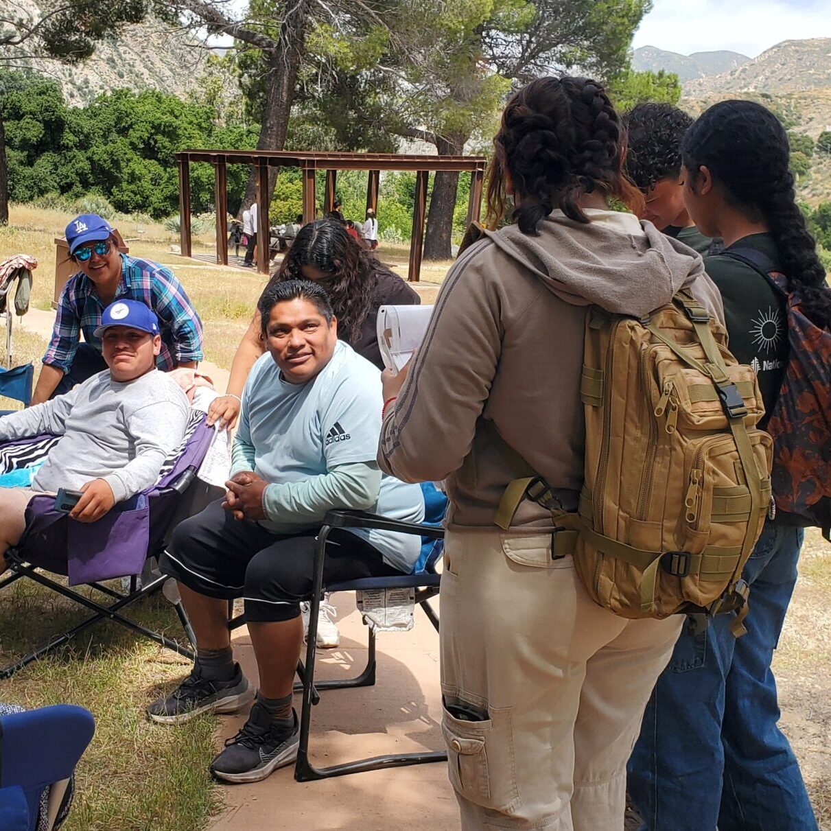
[[[193,470],[185,470],[173,484],[170,484],[169,489],[178,494],[184,494],[185,490],[187,490],[189,485],[194,481],[194,478],[195,472]],[[90,617],[86,617],[83,621],[76,624],[76,626],[71,627],[71,629],[68,629],[66,632],[62,632],[61,634],[52,637],[52,640],[50,640],[47,644],[36,649],[34,652],[30,652],[19,661],[15,661],[8,666],[0,668],[0,680],[13,676],[15,672],[21,670],[24,666],[31,664],[32,661],[37,661],[38,658],[41,658],[50,652],[54,652],[58,647],[62,647],[66,642],[71,641],[73,637],[76,637],[76,635],[80,634],[85,629],[94,626],[96,623],[103,620],[111,620],[118,623],[120,626],[132,630],[133,632],[149,637],[150,640],[155,641],[160,644],[160,646],[166,647],[173,652],[178,652],[179,655],[189,658],[190,660],[194,660],[195,658],[194,652],[182,647],[179,643],[171,640],[169,637],[165,637],[165,635],[161,632],[154,632],[153,630],[142,626],[140,623],[136,623],[135,621],[130,620],[129,617],[125,617],[121,614],[121,610],[125,607],[138,602],[142,597],[148,597],[150,594],[159,591],[165,582],[170,579],[165,577],[165,575],[154,578],[150,581],[150,583],[143,585],[141,588],[138,588],[138,577],[133,575],[130,578],[130,589],[126,592],[119,592],[115,588],[105,586],[103,583],[85,583],[87,587],[94,588],[97,592],[111,598],[113,602],[107,603],[93,600],[91,597],[87,597],[86,594],[82,594],[75,588],[70,588],[63,583],[58,583],[57,580],[47,576],[48,573],[44,569],[38,568],[37,566],[32,565],[32,563],[28,563],[24,558],[22,558],[20,553],[18,553],[15,548],[10,548],[6,552],[6,566],[9,568],[11,573],[5,578],[0,579],[0,590],[6,588],[11,583],[15,583],[20,578],[27,577],[32,579],[35,583],[39,583],[46,588],[50,588],[53,592],[57,592],[63,597],[86,607],[93,612],[93,614]],[[188,617],[184,612],[182,602],[179,600],[174,604],[174,606],[176,613],[179,616],[179,621],[182,623],[182,627],[184,628],[185,635],[188,637],[189,642],[194,644],[196,642],[196,638],[194,637],[193,629],[190,627]]]

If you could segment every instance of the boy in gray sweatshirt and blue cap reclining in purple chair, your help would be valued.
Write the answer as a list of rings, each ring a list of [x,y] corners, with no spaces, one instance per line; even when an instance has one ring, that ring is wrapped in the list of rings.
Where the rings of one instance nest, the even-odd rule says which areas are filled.
[[[21,538],[33,494],[80,490],[69,515],[96,522],[116,502],[155,484],[167,455],[184,437],[188,400],[155,368],[161,339],[150,307],[116,300],[104,310],[96,337],[109,370],[66,395],[0,418],[0,441],[61,436],[31,488],[0,488],[0,554]]]

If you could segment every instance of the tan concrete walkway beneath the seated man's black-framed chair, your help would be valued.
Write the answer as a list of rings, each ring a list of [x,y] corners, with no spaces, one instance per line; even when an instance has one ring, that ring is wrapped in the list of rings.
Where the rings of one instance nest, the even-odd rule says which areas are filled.
[[[366,664],[366,627],[352,595],[334,595],[341,646],[321,650],[317,678],[349,677]],[[257,677],[248,633],[234,637],[248,677]],[[439,639],[416,609],[410,632],[382,632],[374,687],[322,691],[312,711],[312,764],[335,765],[366,756],[443,750]],[[299,711],[300,696],[295,696]],[[234,735],[245,714],[222,716],[220,738]],[[443,762],[295,782],[293,767],[257,784],[223,789],[226,809],[211,831],[457,831],[456,800]]]

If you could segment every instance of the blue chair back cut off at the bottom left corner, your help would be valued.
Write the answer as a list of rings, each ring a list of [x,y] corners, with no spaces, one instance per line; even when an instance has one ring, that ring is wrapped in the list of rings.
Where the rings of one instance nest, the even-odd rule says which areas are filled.
[[[47,788],[47,827],[52,829],[71,775],[95,730],[91,712],[71,704],[0,716],[3,831],[36,831]]]

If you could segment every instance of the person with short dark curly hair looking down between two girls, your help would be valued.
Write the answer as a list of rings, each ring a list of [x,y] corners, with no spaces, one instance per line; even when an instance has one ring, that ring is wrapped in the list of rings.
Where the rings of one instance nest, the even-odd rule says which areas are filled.
[[[713,241],[696,228],[681,193],[681,140],[691,116],[671,104],[638,104],[623,123],[627,175],[644,196],[638,215],[698,253],[709,253]]]

